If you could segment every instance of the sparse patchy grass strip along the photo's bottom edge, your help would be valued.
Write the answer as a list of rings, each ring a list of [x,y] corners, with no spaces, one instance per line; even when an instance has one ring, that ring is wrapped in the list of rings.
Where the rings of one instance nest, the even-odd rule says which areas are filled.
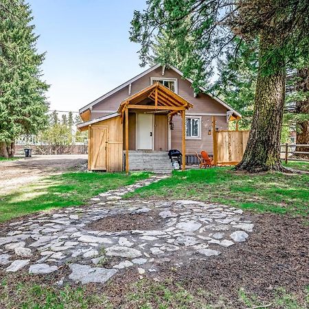
[[[59,288],[55,284],[34,283],[28,280],[16,282],[8,279],[0,282],[0,305],[3,308],[36,308],[36,309],[76,309],[76,308],[131,308],[131,309],[235,309],[228,298],[215,297],[203,288],[187,289],[170,280],[154,282],[141,279],[137,282],[117,286],[107,284],[106,290],[100,286],[65,286]],[[32,281],[32,280],[30,280]],[[115,293],[122,291],[122,295]],[[309,290],[304,293],[308,294]],[[19,307],[16,307],[19,304]],[[272,309],[304,309],[307,301],[297,299],[297,295],[287,293],[284,288],[276,288],[273,297],[267,303],[256,295],[240,288],[237,308],[272,308]],[[124,306],[121,306],[124,305]],[[271,305],[271,306],[269,306]],[[2,308],[2,307],[1,307]]]

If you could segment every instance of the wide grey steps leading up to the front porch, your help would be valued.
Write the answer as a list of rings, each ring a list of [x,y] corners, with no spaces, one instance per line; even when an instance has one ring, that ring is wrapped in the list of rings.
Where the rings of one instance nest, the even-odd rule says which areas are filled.
[[[130,170],[172,170],[167,151],[129,151]]]

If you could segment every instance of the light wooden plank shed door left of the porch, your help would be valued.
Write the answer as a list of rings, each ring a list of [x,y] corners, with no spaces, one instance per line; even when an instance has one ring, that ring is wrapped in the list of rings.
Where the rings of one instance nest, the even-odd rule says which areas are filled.
[[[107,170],[107,126],[90,126],[89,141],[89,170]]]

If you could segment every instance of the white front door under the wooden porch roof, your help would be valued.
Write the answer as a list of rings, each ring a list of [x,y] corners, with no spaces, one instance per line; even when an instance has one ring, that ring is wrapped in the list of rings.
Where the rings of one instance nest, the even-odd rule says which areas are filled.
[[[153,114],[137,113],[137,150],[152,150]]]

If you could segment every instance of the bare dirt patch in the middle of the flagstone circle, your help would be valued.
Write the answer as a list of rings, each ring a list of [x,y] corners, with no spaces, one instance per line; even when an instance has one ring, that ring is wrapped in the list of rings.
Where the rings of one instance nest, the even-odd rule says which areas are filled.
[[[118,214],[98,220],[87,227],[95,231],[131,231],[134,229],[152,230],[163,227],[164,220],[159,211],[141,214]]]

